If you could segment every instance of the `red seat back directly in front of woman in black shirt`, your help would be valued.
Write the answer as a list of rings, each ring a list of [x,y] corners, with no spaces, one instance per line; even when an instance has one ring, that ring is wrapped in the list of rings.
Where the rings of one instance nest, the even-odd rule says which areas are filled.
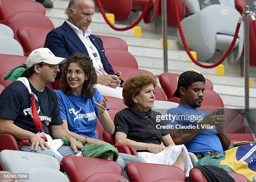
[[[184,172],[175,166],[130,162],[125,169],[132,182],[154,182],[163,178],[185,181]]]

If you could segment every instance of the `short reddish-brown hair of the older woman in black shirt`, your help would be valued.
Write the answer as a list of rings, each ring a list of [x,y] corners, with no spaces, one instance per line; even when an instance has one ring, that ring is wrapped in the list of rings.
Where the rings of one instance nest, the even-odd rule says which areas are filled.
[[[152,84],[154,87],[156,87],[156,80],[149,75],[142,74],[129,77],[123,86],[124,104],[127,107],[133,106],[133,96],[138,95],[141,91],[141,88],[149,84]]]

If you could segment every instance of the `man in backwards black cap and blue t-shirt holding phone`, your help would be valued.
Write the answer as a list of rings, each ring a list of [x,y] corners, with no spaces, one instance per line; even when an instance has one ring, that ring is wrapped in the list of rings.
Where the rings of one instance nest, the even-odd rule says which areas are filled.
[[[180,98],[179,106],[166,113],[166,124],[174,143],[184,144],[198,159],[217,155],[230,145],[229,137],[223,133],[224,112],[218,113],[221,108],[213,112],[197,109],[202,104],[204,90],[205,77],[199,71],[183,72],[173,95]]]

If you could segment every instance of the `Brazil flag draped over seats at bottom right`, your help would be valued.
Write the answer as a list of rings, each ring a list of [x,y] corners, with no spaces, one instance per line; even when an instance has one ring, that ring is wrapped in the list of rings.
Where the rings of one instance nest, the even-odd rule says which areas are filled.
[[[252,181],[256,175],[256,142],[234,147],[216,156],[203,157],[196,164],[201,165],[214,165],[226,171],[237,172]]]

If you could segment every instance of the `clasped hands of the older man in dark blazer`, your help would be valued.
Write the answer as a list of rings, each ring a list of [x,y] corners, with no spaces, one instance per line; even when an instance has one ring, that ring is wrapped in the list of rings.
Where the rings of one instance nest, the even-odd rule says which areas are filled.
[[[121,72],[119,72],[121,74]],[[116,75],[98,75],[97,83],[100,85],[109,86],[112,88],[120,87],[121,80]]]

